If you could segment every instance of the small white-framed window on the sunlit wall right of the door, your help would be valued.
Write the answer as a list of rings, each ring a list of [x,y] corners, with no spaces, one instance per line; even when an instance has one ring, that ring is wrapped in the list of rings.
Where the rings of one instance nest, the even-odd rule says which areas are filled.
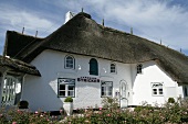
[[[153,82],[152,83],[153,95],[164,95],[163,83]]]

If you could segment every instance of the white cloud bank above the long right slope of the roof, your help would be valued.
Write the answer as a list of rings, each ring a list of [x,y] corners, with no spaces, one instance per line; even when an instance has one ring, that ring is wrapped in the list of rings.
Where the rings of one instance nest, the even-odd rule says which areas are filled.
[[[87,1],[106,21],[133,27],[140,36],[179,49],[188,49],[188,12],[179,4],[160,0]],[[100,5],[97,5],[100,4]],[[115,27],[115,23],[113,25]]]

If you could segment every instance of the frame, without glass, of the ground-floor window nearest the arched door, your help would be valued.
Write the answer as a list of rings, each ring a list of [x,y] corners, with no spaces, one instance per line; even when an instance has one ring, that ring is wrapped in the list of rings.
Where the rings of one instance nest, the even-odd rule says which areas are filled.
[[[111,83],[111,86],[109,84],[103,84],[103,82],[105,83],[105,82],[108,82],[108,83]],[[109,86],[108,88],[111,88],[111,91],[106,91],[106,89],[105,89],[105,93],[107,92],[107,93],[109,93],[111,92],[111,95],[108,95],[107,93],[107,95],[105,94],[103,94],[103,86],[105,86],[104,88],[107,88],[107,86]],[[113,97],[113,81],[104,81],[104,80],[102,80],[101,81],[101,98],[108,98],[108,97]]]

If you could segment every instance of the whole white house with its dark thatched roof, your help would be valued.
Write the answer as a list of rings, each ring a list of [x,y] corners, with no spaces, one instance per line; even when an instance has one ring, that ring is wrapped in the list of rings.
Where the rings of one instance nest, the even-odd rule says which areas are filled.
[[[33,111],[59,110],[66,97],[77,109],[101,106],[105,97],[132,106],[188,95],[187,56],[100,25],[84,12],[45,38],[8,31],[4,55],[39,70],[21,77],[21,100]]]

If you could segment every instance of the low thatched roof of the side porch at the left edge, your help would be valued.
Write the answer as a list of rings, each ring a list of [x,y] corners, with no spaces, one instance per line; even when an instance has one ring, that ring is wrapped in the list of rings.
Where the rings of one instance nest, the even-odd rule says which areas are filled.
[[[12,59],[12,58],[0,56],[0,66],[10,68],[11,71],[14,71],[14,72],[23,72],[23,74],[29,74],[29,75],[34,75],[34,76],[41,76],[41,74],[34,66],[23,63],[18,59]]]

